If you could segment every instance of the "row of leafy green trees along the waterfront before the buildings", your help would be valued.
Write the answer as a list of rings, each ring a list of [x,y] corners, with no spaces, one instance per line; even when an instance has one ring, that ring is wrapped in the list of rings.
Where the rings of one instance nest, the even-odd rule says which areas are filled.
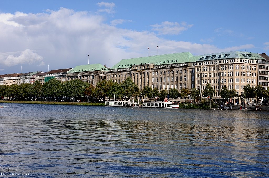
[[[71,101],[71,98],[89,97],[91,101],[94,98],[99,98],[105,101],[105,98],[109,100],[111,98],[137,98],[143,97],[146,100],[160,96],[161,98],[169,97],[173,98],[200,98],[209,97],[215,94],[215,90],[208,83],[203,92],[200,93],[196,88],[192,88],[189,91],[187,88],[182,88],[180,92],[176,88],[171,88],[169,91],[166,89],[158,91],[157,88],[152,89],[149,86],[145,86],[143,90],[139,90],[138,86],[134,84],[132,79],[128,77],[122,83],[113,83],[110,79],[108,81],[102,80],[98,82],[94,87],[92,84],[83,82],[82,80],[69,80],[61,83],[57,79],[51,79],[43,85],[39,81],[35,81],[33,84],[23,83],[19,86],[12,84],[11,86],[0,85],[0,96],[6,98],[15,98],[19,100],[47,100],[47,101]],[[220,91],[222,98],[269,98],[269,93],[264,90],[262,86],[256,86],[254,88],[247,84],[244,87],[241,95],[237,94],[235,89],[228,90],[222,88]]]

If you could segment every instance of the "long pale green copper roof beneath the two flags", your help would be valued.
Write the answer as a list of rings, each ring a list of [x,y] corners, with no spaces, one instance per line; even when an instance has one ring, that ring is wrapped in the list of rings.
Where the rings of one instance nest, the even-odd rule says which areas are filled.
[[[162,64],[175,64],[175,63],[197,61],[197,60],[192,60],[191,57],[193,57],[193,55],[190,52],[184,52],[184,53],[164,54],[164,55],[149,56],[149,57],[123,59],[110,69],[130,68],[133,65],[139,65],[139,64],[162,65]]]

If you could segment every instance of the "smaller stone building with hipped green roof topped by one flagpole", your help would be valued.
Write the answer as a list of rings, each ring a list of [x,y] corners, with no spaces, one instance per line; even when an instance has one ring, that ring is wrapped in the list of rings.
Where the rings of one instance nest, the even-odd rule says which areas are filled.
[[[67,72],[66,80],[79,79],[96,87],[99,81],[105,80],[105,72],[108,68],[101,64],[79,65]]]

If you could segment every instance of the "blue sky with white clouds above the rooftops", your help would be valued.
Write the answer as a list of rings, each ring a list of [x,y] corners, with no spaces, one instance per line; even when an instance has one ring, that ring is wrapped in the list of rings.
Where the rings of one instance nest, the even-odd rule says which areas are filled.
[[[268,5],[269,0],[0,0],[0,75],[88,63],[112,67],[123,59],[181,52],[269,54]]]

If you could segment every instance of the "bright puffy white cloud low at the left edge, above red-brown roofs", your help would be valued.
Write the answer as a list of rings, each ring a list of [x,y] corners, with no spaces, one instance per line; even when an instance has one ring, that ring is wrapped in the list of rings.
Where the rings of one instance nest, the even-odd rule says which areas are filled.
[[[11,53],[0,53],[0,63],[9,67],[18,64],[31,64],[34,62],[40,62],[42,59],[43,57],[33,53],[33,51],[30,49]]]

